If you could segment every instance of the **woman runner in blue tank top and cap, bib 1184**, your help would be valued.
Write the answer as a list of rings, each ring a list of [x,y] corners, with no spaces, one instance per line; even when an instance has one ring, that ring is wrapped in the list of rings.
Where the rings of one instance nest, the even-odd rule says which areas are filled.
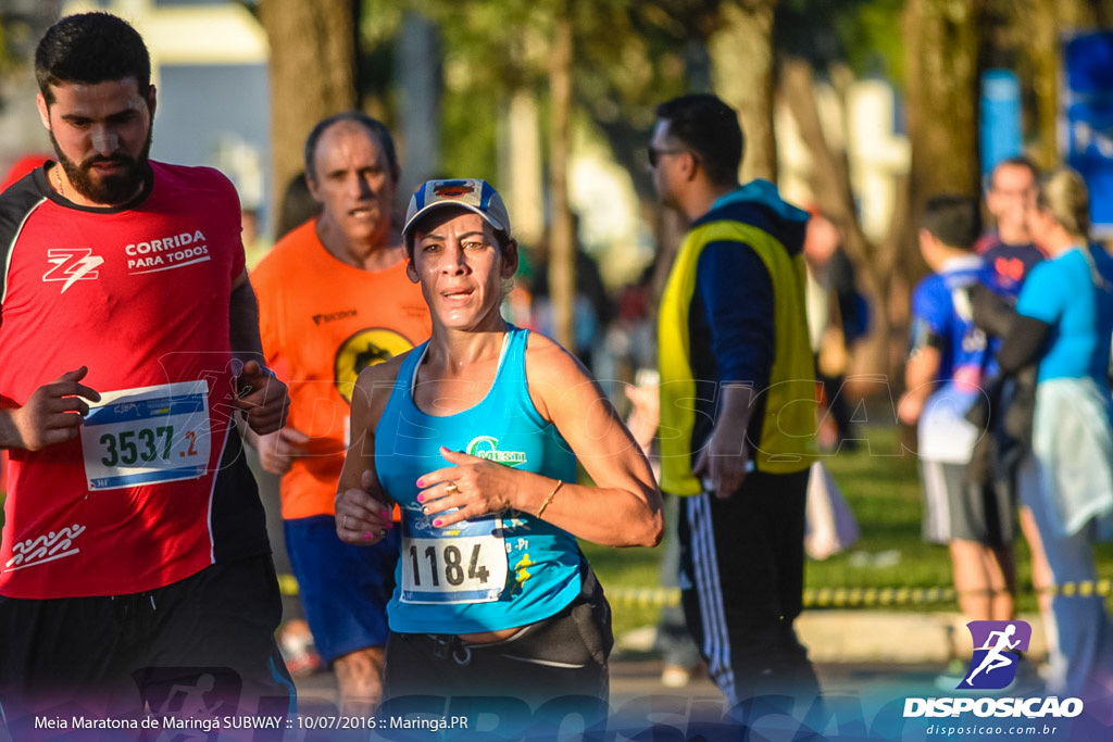
[[[384,698],[602,719],[610,612],[577,537],[660,541],[649,464],[568,352],[502,318],[518,244],[490,185],[424,184],[403,237],[433,334],[359,375],[336,501],[351,544],[402,511]],[[575,483],[578,458],[593,485]]]

